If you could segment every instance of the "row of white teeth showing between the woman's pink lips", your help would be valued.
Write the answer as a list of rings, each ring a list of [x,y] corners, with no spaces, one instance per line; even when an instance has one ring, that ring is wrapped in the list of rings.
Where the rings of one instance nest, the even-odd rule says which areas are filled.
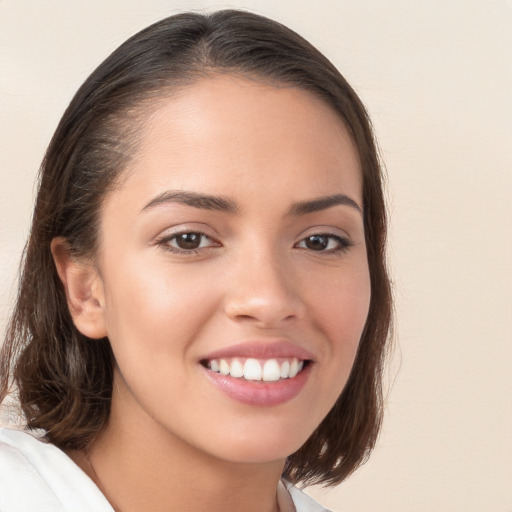
[[[201,361],[201,364],[220,375],[229,375],[235,379],[249,381],[276,382],[293,379],[304,370],[311,361],[291,358],[222,358]]]

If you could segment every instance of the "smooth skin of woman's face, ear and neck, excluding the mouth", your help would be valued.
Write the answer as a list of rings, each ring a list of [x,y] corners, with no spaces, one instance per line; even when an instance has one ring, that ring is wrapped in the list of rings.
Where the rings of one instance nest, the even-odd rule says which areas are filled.
[[[160,101],[123,172],[95,261],[52,244],[77,328],[108,336],[117,362],[94,472],[70,455],[123,512],[276,511],[285,459],[340,395],[368,314],[351,137],[308,92],[211,76]],[[296,397],[248,405],[206,377],[207,354],[249,340],[314,355]]]

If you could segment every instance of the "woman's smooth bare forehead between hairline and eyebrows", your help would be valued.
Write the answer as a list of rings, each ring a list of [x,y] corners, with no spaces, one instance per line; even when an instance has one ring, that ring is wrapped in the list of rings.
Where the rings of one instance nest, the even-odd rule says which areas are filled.
[[[193,189],[233,195],[289,189],[350,193],[362,178],[340,116],[313,94],[218,75],[162,97],[140,133],[124,186],[147,195]],[[295,197],[301,200],[301,197]]]

